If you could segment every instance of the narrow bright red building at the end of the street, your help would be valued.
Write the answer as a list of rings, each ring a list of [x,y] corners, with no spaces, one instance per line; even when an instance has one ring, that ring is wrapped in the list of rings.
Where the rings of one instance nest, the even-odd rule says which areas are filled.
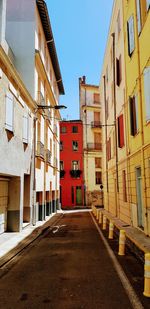
[[[60,122],[60,202],[62,208],[84,204],[83,127],[81,120]]]

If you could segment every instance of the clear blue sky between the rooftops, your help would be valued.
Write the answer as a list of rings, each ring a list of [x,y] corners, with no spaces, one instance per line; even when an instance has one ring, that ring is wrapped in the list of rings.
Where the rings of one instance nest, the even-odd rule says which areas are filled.
[[[66,119],[79,118],[78,78],[99,84],[113,0],[46,0],[65,95]]]

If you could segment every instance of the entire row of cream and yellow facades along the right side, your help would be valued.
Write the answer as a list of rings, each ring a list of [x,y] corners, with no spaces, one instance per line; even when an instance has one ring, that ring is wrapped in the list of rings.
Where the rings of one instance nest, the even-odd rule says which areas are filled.
[[[114,1],[100,80],[105,209],[146,235],[150,235],[149,14],[149,1]]]

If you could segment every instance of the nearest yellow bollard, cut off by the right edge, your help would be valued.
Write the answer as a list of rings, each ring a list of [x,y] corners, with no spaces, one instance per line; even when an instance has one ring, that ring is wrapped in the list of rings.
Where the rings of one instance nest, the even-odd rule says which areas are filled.
[[[143,295],[150,297],[150,253],[145,253]]]

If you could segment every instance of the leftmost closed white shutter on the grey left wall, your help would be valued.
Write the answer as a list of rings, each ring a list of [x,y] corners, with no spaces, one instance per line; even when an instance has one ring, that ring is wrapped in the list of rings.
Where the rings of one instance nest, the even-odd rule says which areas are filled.
[[[14,119],[14,102],[11,92],[6,94],[6,122],[5,127],[9,131],[13,131],[13,119]]]

